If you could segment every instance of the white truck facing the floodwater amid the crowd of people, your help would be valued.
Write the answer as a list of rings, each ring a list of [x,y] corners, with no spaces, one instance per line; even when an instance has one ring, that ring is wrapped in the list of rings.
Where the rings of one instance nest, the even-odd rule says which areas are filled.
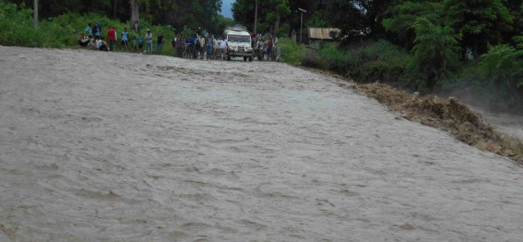
[[[232,26],[223,31],[227,38],[227,60],[230,57],[244,57],[244,61],[253,61],[254,49],[251,46],[251,34],[245,26]]]

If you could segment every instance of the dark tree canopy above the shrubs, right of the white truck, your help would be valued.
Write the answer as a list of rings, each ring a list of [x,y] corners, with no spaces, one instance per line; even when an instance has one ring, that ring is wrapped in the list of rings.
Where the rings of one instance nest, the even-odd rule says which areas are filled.
[[[254,29],[255,2],[233,4],[234,18],[249,29]],[[462,52],[470,49],[481,55],[489,44],[523,41],[523,0],[259,0],[258,32],[288,35],[298,30],[298,8],[307,10],[304,27],[338,27],[347,42],[385,38],[412,49],[420,18],[432,25],[418,24],[418,33],[423,26],[449,29],[460,36],[457,45]]]

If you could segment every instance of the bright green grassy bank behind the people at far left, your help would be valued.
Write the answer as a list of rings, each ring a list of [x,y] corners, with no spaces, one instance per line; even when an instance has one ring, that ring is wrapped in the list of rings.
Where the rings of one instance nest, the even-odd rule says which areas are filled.
[[[118,20],[109,19],[100,14],[77,14],[68,13],[53,19],[43,19],[39,21],[38,28],[33,28],[33,11],[31,9],[19,9],[16,4],[7,4],[0,1],[0,44],[6,46],[24,46],[37,48],[80,48],[77,38],[88,23],[93,26],[96,23],[102,24],[102,36],[107,42],[107,29],[114,26],[118,33],[118,40],[121,39],[121,32],[124,27],[129,29],[129,22],[122,23]],[[170,26],[153,26],[147,21],[140,20],[142,30],[150,28],[153,39],[156,40],[157,34],[162,32],[165,43],[163,54],[173,56],[175,49],[170,42],[174,37],[174,32]],[[144,34],[144,33],[142,33]],[[129,32],[129,48],[132,49],[132,40],[137,33]],[[127,51],[131,51],[131,49]],[[153,44],[155,50],[155,44]],[[116,51],[126,51],[120,42],[115,45]]]

